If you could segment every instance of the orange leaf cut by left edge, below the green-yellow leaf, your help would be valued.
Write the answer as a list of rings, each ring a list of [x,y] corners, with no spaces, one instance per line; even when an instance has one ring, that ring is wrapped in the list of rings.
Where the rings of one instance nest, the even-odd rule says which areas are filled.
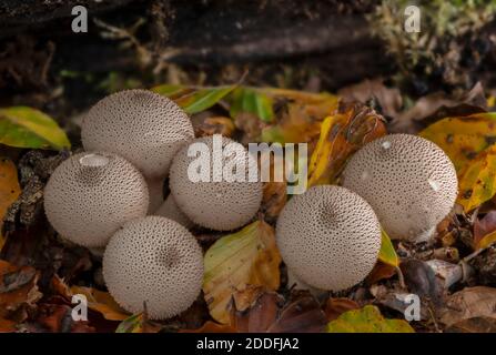
[[[16,164],[8,159],[0,160],[0,250],[3,246],[4,240],[1,235],[3,217],[6,216],[9,206],[16,202],[21,193],[19,186],[18,171]]]

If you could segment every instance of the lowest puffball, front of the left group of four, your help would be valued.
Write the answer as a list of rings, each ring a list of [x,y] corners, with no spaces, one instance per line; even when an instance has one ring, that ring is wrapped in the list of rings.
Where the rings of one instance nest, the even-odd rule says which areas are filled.
[[[134,220],[110,240],[103,278],[124,310],[142,312],[145,302],[151,318],[169,318],[188,310],[200,294],[202,250],[174,221],[160,216]]]

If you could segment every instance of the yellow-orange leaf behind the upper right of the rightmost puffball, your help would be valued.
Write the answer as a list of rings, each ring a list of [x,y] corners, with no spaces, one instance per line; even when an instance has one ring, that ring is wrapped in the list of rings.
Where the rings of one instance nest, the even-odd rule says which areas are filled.
[[[446,118],[431,124],[419,135],[439,145],[459,172],[496,141],[496,113]]]

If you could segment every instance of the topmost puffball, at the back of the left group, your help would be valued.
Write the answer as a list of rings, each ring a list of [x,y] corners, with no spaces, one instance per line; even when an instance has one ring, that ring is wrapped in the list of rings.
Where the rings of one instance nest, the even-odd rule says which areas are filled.
[[[87,151],[120,154],[145,178],[166,176],[174,154],[193,138],[184,111],[146,90],[125,90],[102,99],[84,116],[81,129]]]

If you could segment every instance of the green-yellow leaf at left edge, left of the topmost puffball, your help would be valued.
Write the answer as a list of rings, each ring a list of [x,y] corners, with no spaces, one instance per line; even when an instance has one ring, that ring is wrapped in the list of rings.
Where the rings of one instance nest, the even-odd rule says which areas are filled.
[[[52,118],[27,106],[0,109],[0,143],[54,150],[71,146],[65,132]]]

